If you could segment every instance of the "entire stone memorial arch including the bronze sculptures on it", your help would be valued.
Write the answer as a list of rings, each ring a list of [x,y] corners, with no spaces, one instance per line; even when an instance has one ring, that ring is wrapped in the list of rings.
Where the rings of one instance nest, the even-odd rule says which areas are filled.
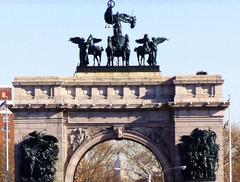
[[[16,181],[21,179],[21,159],[26,159],[21,145],[33,132],[37,141],[47,142],[44,152],[51,152],[52,142],[58,141],[56,164],[54,158],[50,167],[36,168],[48,170],[52,179],[55,165],[57,182],[73,182],[83,155],[113,139],[132,140],[148,148],[160,162],[167,182],[184,181],[186,175],[190,180],[223,182],[222,123],[228,103],[222,96],[222,77],[206,72],[162,76],[157,46],[168,39],[144,34],[136,40],[140,46],[130,49],[129,35],[123,33],[121,24],[134,28],[136,17],[116,12],[114,7],[115,2],[109,0],[104,14],[113,28],[105,48],[107,66],[100,66],[104,48],[95,45],[102,39],[90,34],[87,39],[70,38],[80,49],[73,77],[16,77],[13,81]],[[136,52],[139,66],[130,66],[131,50]],[[89,55],[98,66],[89,66]],[[41,131],[52,141],[41,140]],[[47,159],[31,147],[36,150],[32,154],[25,147],[25,153],[33,155],[25,156],[31,163],[29,179],[37,173],[34,167],[41,165],[36,153]],[[183,165],[185,171],[180,168]]]

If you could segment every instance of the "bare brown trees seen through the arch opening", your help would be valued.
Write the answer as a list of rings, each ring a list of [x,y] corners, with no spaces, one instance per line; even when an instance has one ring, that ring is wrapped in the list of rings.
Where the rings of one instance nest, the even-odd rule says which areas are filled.
[[[118,156],[121,158],[121,180],[146,181],[151,174],[152,181],[161,181],[161,166],[148,149],[129,140],[111,140],[98,144],[83,156],[77,166],[74,182],[114,182],[114,163]]]

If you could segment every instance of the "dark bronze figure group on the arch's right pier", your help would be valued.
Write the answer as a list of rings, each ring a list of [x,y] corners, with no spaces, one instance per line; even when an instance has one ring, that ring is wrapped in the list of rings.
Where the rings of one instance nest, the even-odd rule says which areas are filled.
[[[186,165],[184,176],[190,181],[215,181],[218,169],[219,145],[212,130],[194,129],[190,136],[182,136],[179,151]]]

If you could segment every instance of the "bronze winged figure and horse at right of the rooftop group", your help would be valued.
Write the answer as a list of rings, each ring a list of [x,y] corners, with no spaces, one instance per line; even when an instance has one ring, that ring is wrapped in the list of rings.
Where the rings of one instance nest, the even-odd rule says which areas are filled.
[[[134,49],[137,53],[138,64],[145,66],[145,55],[148,54],[148,64],[155,66],[157,64],[157,46],[166,40],[168,39],[165,37],[152,37],[152,40],[150,40],[147,34],[145,34],[142,39],[137,39],[137,43],[143,44]]]

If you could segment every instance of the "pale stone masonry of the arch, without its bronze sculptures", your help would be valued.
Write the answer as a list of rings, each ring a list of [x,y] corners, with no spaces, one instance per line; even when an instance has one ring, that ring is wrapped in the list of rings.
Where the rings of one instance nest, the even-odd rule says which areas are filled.
[[[222,84],[220,75],[162,76],[158,66],[88,67],[73,77],[16,77],[11,108],[16,181],[19,143],[28,133],[43,130],[58,139],[56,181],[73,182],[81,157],[112,139],[142,144],[161,163],[165,181],[183,181],[177,145],[196,128],[217,134],[216,181],[223,181],[222,123],[228,103]]]

